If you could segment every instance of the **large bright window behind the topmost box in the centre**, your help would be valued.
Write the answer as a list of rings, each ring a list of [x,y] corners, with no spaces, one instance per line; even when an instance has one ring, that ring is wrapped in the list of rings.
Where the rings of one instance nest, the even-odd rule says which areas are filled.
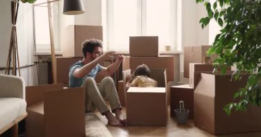
[[[107,0],[106,46],[128,51],[129,36],[159,36],[159,50],[177,45],[177,1]]]

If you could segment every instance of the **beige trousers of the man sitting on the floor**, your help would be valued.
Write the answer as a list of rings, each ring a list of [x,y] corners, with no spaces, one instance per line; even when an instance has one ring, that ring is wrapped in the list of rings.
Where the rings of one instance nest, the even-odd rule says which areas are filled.
[[[88,77],[84,82],[85,86],[85,112],[95,112],[99,110],[101,114],[108,112],[105,100],[111,105],[111,110],[122,108],[115,84],[111,77],[104,77],[99,85],[96,84],[92,77]]]

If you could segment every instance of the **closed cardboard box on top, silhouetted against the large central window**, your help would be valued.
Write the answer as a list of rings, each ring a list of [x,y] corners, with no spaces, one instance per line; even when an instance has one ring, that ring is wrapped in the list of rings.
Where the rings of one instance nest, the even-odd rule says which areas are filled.
[[[158,36],[130,36],[129,52],[131,57],[159,56]]]

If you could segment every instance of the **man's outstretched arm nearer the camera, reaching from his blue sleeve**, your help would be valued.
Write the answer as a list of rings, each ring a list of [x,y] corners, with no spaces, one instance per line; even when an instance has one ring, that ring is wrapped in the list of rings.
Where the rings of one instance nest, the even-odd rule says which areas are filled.
[[[82,68],[76,69],[73,72],[73,77],[76,77],[76,78],[84,77],[85,75],[87,75],[91,72],[91,70],[98,64],[98,62],[100,60],[104,60],[105,58],[109,58],[113,55],[115,55],[115,51],[109,51],[109,52],[104,53],[103,55],[100,55],[100,57],[95,58],[95,60],[93,60],[92,62],[89,62],[88,64],[85,64],[84,66],[82,66]]]

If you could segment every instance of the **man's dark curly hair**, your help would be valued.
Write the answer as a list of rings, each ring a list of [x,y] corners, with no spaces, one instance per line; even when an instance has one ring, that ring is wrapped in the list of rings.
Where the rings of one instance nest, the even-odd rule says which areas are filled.
[[[95,38],[84,40],[84,42],[82,42],[82,53],[84,58],[86,57],[87,52],[93,53],[95,47],[102,48],[102,41]]]

